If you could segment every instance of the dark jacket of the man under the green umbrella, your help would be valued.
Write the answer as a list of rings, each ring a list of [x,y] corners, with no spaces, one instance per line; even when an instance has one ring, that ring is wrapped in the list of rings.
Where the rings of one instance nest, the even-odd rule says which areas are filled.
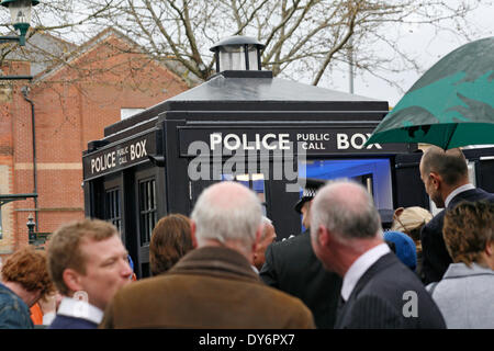
[[[445,239],[442,238],[446,211],[454,207],[462,201],[475,202],[481,200],[494,202],[494,195],[482,189],[471,189],[459,193],[451,200],[445,211],[438,213],[422,228],[422,280],[424,284],[427,285],[440,281],[449,264],[452,263],[452,259],[446,248]]]

